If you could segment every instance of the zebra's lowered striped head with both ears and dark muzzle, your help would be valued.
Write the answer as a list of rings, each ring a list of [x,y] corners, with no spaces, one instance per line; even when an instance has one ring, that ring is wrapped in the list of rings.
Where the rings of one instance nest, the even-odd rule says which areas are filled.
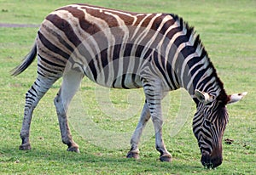
[[[201,150],[204,167],[218,167],[222,163],[222,138],[229,121],[226,104],[242,99],[247,93],[227,95],[224,91],[217,97],[195,90],[197,111],[193,120],[193,132]]]

